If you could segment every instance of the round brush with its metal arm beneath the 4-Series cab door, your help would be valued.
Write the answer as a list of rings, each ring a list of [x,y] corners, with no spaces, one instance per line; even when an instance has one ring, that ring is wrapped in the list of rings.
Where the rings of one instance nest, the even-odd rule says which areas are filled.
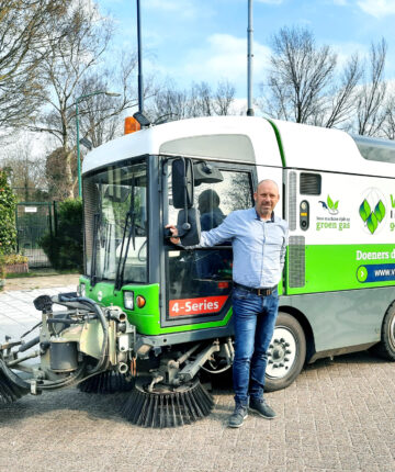
[[[162,352],[149,377],[138,377],[122,414],[134,425],[167,428],[210,415],[213,396],[198,377],[201,369],[221,373],[233,362],[230,338],[184,344]]]

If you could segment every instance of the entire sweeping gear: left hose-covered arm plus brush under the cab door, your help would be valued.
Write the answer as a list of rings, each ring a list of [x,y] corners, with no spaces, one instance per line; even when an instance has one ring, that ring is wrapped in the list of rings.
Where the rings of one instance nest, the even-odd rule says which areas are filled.
[[[120,307],[77,293],[42,295],[34,305],[41,322],[21,339],[0,344],[0,406],[77,385],[86,393],[123,392],[122,415],[138,426],[181,426],[212,411],[199,372],[230,367],[230,338],[149,347],[142,355],[147,345]]]

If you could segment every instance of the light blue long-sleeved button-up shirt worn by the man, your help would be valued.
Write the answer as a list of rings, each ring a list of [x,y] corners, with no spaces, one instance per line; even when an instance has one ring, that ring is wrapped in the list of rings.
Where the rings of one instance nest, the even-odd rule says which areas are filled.
[[[198,247],[232,241],[233,279],[255,289],[276,285],[282,276],[287,223],[275,216],[262,221],[256,209],[237,210],[214,229],[202,232]]]

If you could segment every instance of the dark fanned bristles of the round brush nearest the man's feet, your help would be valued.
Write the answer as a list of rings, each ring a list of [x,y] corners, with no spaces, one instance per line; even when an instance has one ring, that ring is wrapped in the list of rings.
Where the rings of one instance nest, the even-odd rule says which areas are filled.
[[[213,397],[199,379],[179,387],[157,384],[153,392],[147,391],[148,384],[147,379],[136,381],[135,390],[121,411],[134,425],[151,428],[182,426],[207,416],[213,409]]]

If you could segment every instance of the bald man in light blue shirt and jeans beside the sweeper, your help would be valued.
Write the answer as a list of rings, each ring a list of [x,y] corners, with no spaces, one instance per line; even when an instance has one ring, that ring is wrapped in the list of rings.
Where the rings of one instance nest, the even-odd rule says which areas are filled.
[[[232,428],[242,425],[248,407],[264,418],[275,417],[263,398],[263,385],[267,351],[278,316],[276,285],[284,267],[287,223],[274,215],[280,200],[274,181],[260,181],[253,200],[252,209],[235,211],[216,228],[202,232],[199,244],[211,247],[232,240],[233,246],[236,407],[228,423]],[[179,244],[177,228],[168,227],[173,236],[170,240]]]

